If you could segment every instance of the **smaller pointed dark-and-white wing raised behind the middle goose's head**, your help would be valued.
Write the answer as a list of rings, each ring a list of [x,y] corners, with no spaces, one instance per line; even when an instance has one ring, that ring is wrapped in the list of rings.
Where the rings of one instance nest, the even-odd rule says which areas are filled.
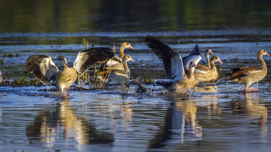
[[[183,60],[183,65],[186,70],[189,70],[189,63],[191,61],[194,61],[196,64],[200,61],[201,55],[199,53],[199,49],[197,44],[195,45],[194,49],[192,52],[188,55],[182,58]],[[192,72],[194,72],[194,68],[192,68]]]

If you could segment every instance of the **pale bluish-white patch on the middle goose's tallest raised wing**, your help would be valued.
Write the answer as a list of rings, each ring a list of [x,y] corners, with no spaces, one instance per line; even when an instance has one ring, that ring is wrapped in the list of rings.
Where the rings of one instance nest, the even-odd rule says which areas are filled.
[[[173,83],[184,79],[183,62],[179,55],[171,58],[171,73],[174,78]]]

